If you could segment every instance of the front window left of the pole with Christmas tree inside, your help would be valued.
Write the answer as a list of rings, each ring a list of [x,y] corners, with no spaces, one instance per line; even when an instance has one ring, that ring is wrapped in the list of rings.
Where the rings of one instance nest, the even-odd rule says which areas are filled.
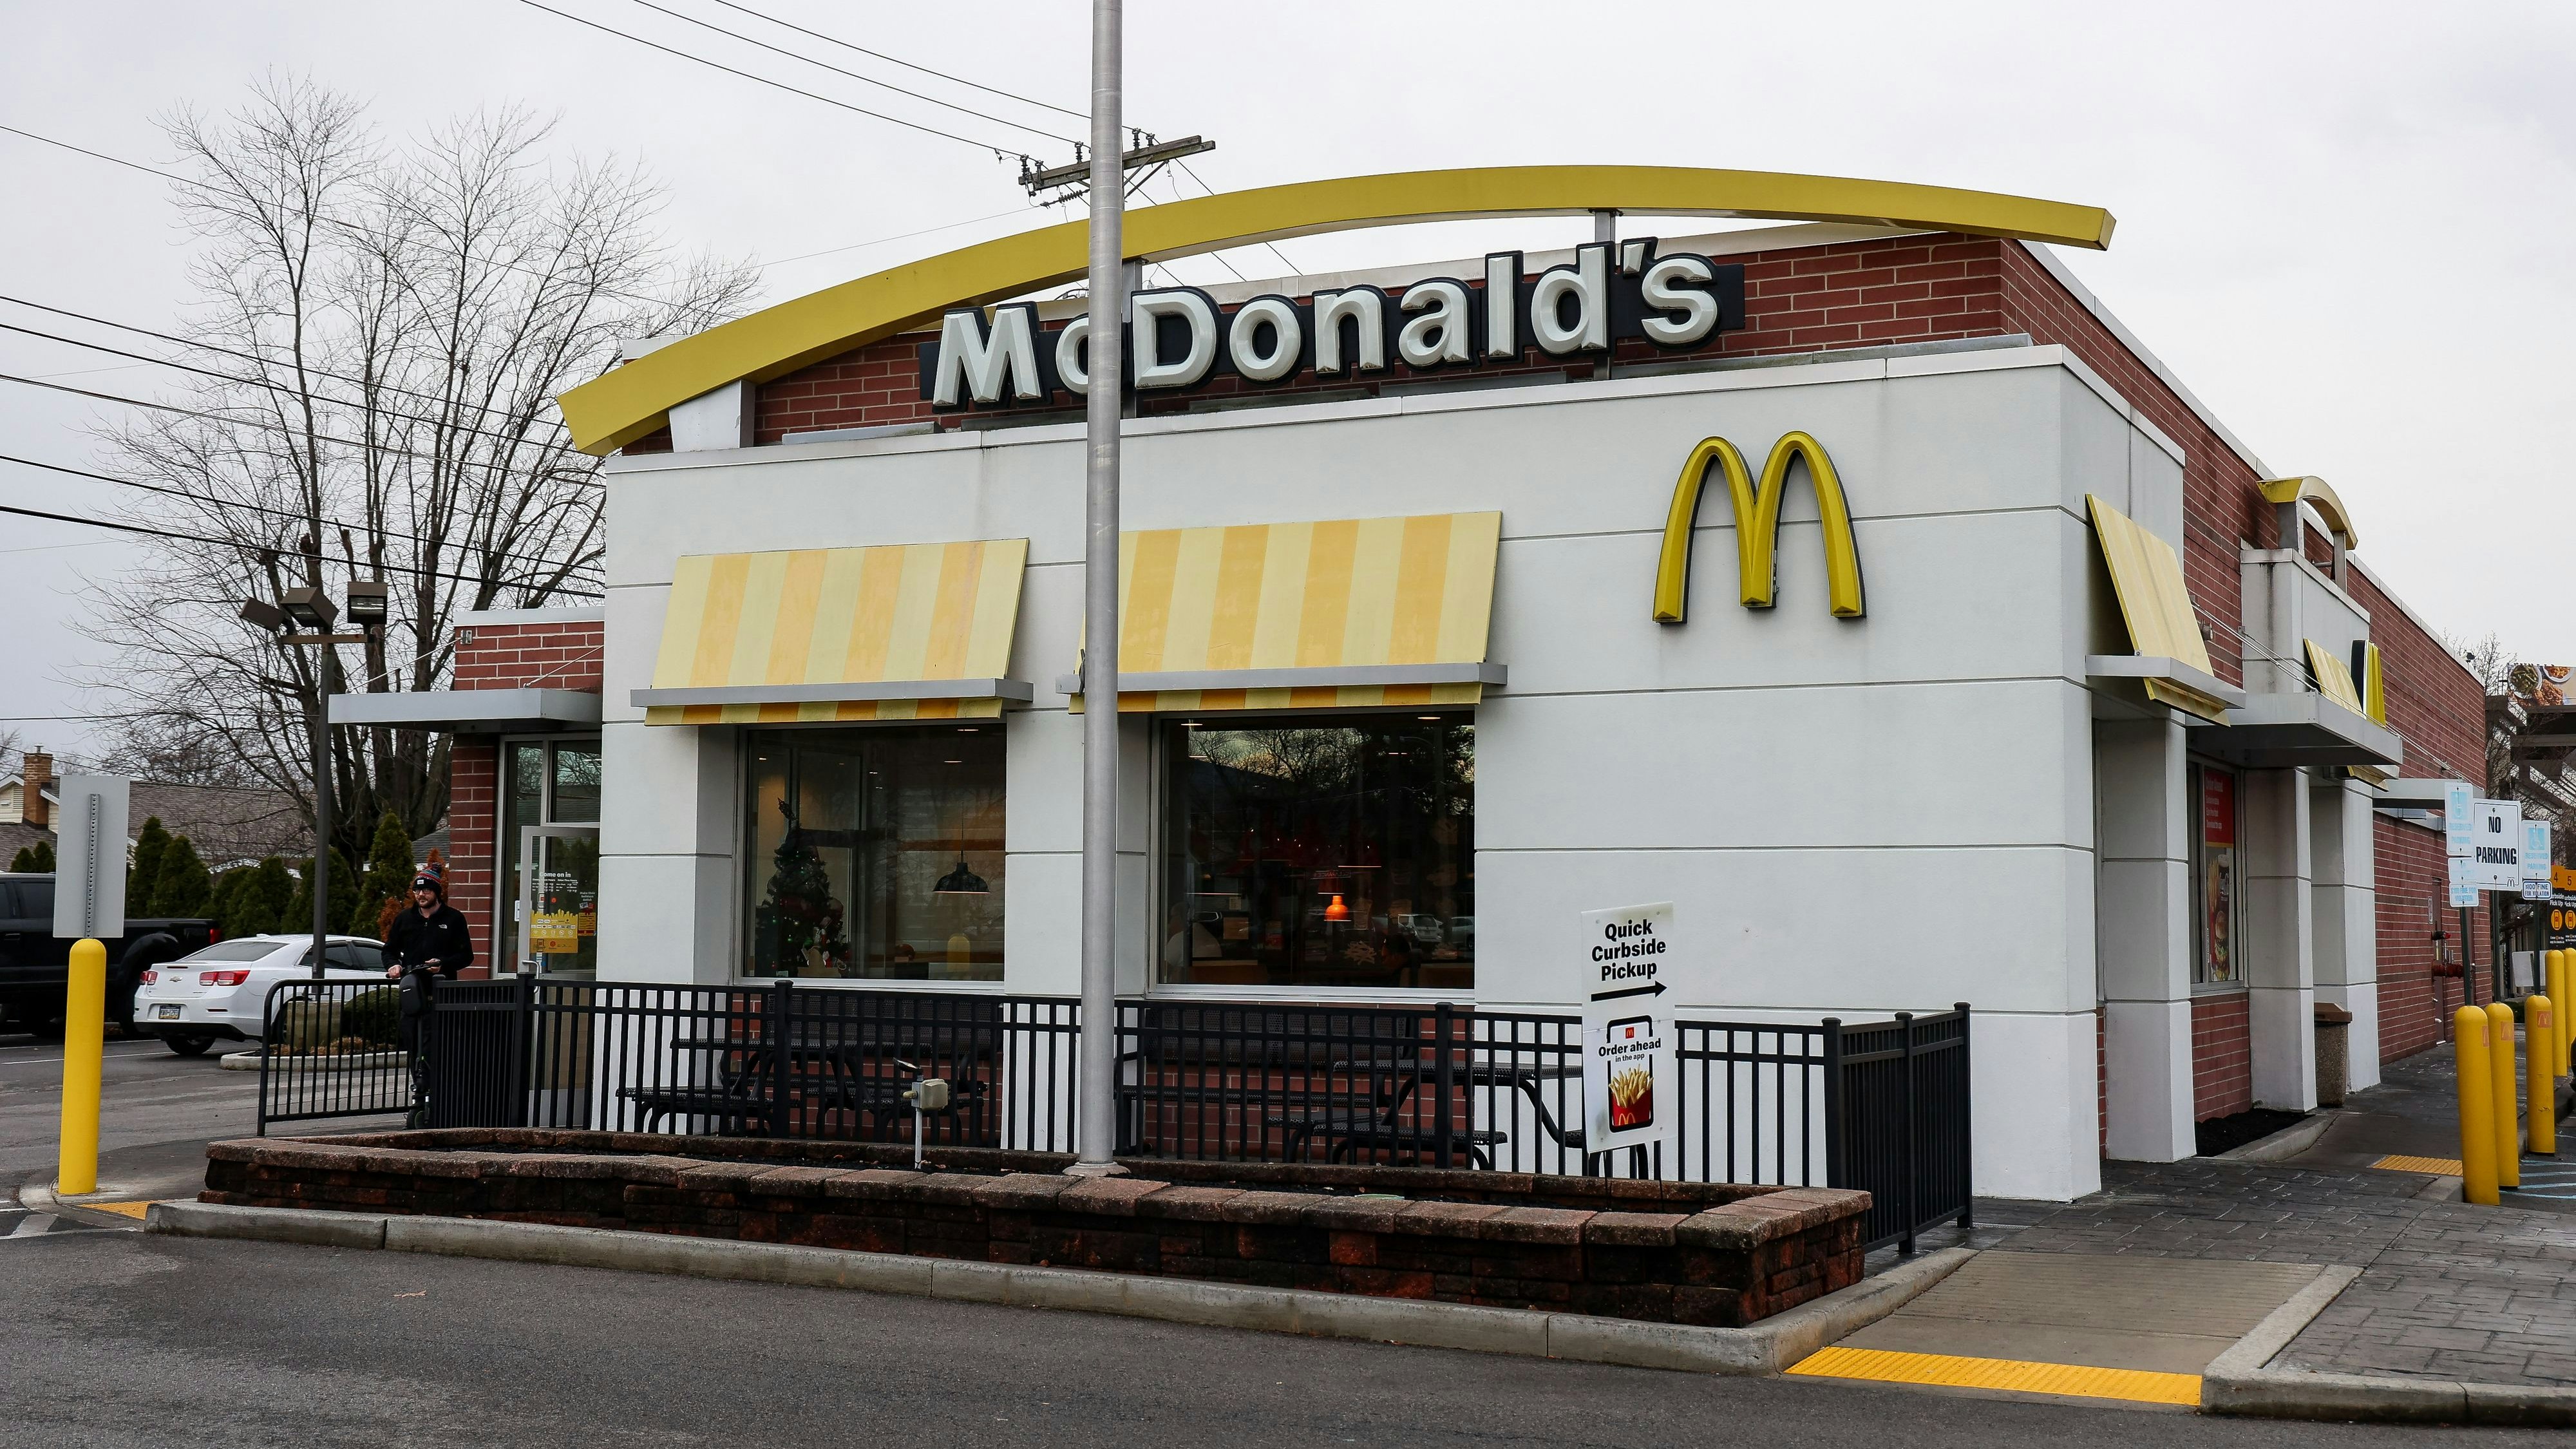
[[[744,745],[744,975],[1002,980],[1002,724]]]

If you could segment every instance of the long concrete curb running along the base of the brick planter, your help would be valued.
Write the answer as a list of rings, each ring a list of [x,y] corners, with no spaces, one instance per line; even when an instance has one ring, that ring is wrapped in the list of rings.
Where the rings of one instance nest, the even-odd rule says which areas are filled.
[[[1638,1323],[1579,1312],[1257,1289],[1198,1279],[1097,1274],[1087,1269],[1028,1269],[956,1258],[850,1253],[840,1248],[793,1248],[786,1243],[737,1243],[729,1238],[492,1222],[479,1217],[371,1217],[363,1212],[155,1201],[144,1217],[144,1232],[384,1248],[394,1253],[443,1253],[451,1258],[1059,1307],[1211,1328],[1370,1338],[1427,1348],[1468,1348],[1479,1354],[1522,1354],[1530,1359],[1574,1359],[1700,1374],[1777,1374],[1816,1348],[1896,1312],[1914,1294],[1942,1281],[1976,1256],[1968,1248],[1942,1248],[1752,1328],[1698,1328],[1687,1323]]]

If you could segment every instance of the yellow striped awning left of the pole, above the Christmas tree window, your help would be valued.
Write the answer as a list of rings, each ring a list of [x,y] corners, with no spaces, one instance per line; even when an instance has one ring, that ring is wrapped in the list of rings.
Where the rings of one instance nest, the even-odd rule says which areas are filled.
[[[1028,701],[1010,673],[1028,539],[688,554],[647,724],[966,719]]]

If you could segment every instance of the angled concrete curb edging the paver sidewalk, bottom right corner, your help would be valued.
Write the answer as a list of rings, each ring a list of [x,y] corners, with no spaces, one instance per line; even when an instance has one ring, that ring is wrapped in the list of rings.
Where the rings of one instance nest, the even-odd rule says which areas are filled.
[[[2200,1413],[2370,1423],[2576,1426],[2576,1390],[2267,1369],[2360,1269],[2326,1269],[2200,1372]]]

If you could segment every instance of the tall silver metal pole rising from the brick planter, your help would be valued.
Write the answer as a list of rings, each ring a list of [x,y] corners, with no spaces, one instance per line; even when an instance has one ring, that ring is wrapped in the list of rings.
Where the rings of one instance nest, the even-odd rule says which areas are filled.
[[[1126,405],[1121,0],[1092,0],[1092,325],[1082,410],[1082,1085],[1072,1173],[1118,1147],[1118,413]]]

